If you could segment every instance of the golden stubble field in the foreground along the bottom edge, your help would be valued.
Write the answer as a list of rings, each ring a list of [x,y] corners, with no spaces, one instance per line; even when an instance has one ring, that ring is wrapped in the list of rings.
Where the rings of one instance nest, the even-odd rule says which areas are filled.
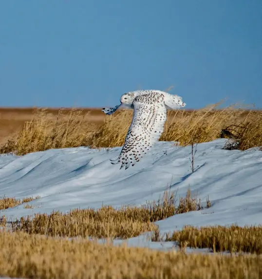
[[[41,279],[260,279],[262,258],[161,252],[24,233],[0,234],[0,276]]]

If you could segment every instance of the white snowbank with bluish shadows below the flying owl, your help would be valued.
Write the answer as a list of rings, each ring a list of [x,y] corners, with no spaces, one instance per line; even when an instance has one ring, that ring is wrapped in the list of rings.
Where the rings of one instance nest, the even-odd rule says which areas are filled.
[[[159,142],[141,162],[127,170],[110,164],[121,148],[52,149],[22,157],[0,157],[0,196],[41,198],[1,211],[9,220],[32,213],[67,211],[76,207],[98,208],[102,204],[141,205],[157,200],[169,187],[185,196],[188,186],[212,207],[159,221],[161,233],[191,225],[251,225],[262,223],[262,151],[224,150],[225,140],[199,144],[195,155],[197,170],[190,169],[191,147],[174,147]],[[205,214],[203,214],[205,213]],[[115,243],[119,243],[116,241]],[[150,243],[146,236],[128,241],[130,245],[168,249],[172,243]]]

